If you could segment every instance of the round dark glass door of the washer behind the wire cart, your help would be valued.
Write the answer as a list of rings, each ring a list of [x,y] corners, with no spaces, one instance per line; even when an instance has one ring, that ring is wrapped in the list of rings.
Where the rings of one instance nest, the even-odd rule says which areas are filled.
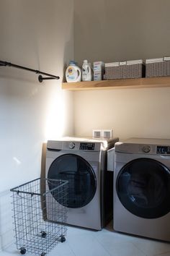
[[[93,168],[84,158],[75,154],[65,154],[56,158],[48,170],[48,179],[68,181],[68,200],[67,205],[64,205],[68,208],[84,207],[93,199],[97,190]],[[48,185],[50,187],[50,182]],[[59,202],[65,203],[62,200]]]

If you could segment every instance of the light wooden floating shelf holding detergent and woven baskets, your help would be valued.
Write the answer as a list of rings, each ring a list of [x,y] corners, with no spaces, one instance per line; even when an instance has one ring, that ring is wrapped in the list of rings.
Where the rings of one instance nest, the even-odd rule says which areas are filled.
[[[63,82],[64,90],[110,90],[125,88],[170,87],[170,77],[150,77],[137,79],[117,79],[90,82]]]

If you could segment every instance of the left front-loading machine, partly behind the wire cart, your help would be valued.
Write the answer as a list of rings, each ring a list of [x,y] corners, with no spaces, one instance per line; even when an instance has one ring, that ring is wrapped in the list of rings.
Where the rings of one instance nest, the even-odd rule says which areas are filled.
[[[46,177],[68,181],[66,223],[100,230],[112,218],[112,197],[109,197],[112,195],[113,184],[109,177],[112,172],[106,171],[106,154],[117,141],[118,138],[93,140],[75,137],[48,141]],[[51,200],[55,200],[52,195]]]

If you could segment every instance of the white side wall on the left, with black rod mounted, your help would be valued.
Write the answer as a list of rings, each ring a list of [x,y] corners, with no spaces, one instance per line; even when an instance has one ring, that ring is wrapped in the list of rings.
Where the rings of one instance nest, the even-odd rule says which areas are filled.
[[[61,90],[73,59],[73,0],[0,0],[0,60],[60,80],[0,67],[0,249],[12,242],[9,189],[40,176],[42,142],[73,135],[73,94]]]

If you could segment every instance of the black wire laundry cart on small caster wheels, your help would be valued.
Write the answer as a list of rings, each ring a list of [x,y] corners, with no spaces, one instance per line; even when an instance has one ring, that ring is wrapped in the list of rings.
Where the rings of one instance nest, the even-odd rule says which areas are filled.
[[[16,244],[22,255],[45,256],[66,241],[67,181],[39,178],[10,190]]]

